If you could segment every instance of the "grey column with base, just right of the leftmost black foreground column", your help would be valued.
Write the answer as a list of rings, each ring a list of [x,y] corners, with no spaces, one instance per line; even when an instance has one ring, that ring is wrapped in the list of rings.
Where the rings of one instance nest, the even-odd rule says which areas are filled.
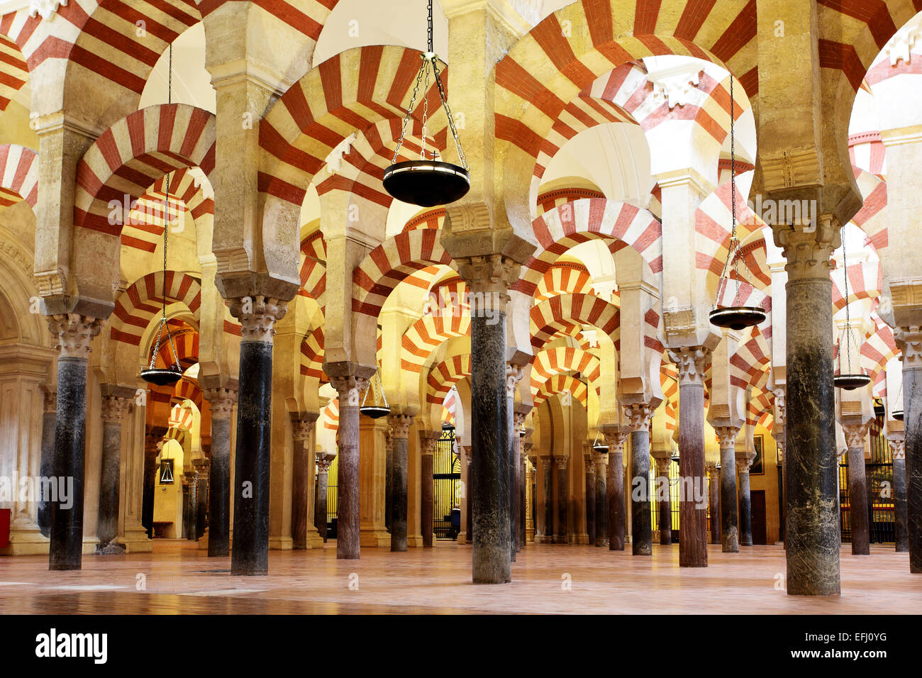
[[[102,455],[100,470],[100,507],[97,535],[100,543],[97,553],[109,555],[124,553],[118,537],[118,509],[121,491],[119,470],[122,461],[122,420],[128,411],[134,388],[102,387]]]

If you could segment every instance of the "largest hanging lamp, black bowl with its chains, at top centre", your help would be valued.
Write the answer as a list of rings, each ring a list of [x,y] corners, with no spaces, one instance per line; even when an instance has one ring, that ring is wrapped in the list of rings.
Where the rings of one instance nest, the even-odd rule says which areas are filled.
[[[384,170],[384,190],[401,202],[418,205],[421,208],[447,205],[466,196],[467,191],[470,190],[470,172],[468,172],[467,159],[465,159],[464,150],[461,149],[461,141],[458,138],[457,129],[455,129],[455,118],[452,116],[452,110],[449,108],[448,99],[445,96],[442,76],[439,73],[438,56],[432,52],[432,0],[429,0],[427,46],[428,51],[422,54],[422,65],[420,66],[420,72],[416,76],[413,97],[409,101],[407,115],[404,117],[403,127],[400,130],[400,138],[397,140],[394,157],[391,159],[391,166]],[[452,138],[455,140],[455,149],[457,149],[458,158],[461,161],[460,166],[451,162],[435,160],[437,153],[434,149],[430,153],[431,159],[426,157],[426,124],[429,122],[430,77],[435,80],[435,85],[439,89],[439,99],[442,101],[442,107],[448,117],[448,128],[451,130]],[[407,134],[407,125],[412,117],[416,98],[420,93],[420,84],[423,92],[420,160],[397,162],[397,156],[403,146],[404,136]]]

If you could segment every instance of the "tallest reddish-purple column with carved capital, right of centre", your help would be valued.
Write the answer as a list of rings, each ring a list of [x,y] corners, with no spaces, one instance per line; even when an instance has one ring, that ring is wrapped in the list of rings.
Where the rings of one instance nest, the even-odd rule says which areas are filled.
[[[700,497],[704,478],[704,370],[711,351],[703,346],[669,351],[679,368],[679,565],[707,566],[707,513]]]

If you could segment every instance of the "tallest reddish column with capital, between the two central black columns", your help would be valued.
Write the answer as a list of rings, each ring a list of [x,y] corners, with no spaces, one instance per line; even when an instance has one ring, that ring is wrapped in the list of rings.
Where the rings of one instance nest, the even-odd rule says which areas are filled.
[[[339,461],[337,463],[337,558],[359,558],[361,507],[359,503],[359,404],[368,379],[333,376],[330,385],[339,394]]]

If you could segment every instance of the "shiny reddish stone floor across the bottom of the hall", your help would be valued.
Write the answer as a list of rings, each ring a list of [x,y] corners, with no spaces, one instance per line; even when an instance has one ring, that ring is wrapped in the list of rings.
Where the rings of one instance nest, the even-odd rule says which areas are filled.
[[[230,558],[190,541],[158,540],[154,553],[84,555],[78,572],[49,572],[47,558],[0,558],[0,613],[865,613],[922,611],[922,575],[907,553],[842,549],[842,596],[787,596],[781,546],[741,553],[708,547],[710,566],[679,567],[679,546],[652,557],[591,546],[529,545],[511,584],[470,583],[470,546],[390,553],[359,561],[323,550],[269,555],[267,577],[231,577]]]

